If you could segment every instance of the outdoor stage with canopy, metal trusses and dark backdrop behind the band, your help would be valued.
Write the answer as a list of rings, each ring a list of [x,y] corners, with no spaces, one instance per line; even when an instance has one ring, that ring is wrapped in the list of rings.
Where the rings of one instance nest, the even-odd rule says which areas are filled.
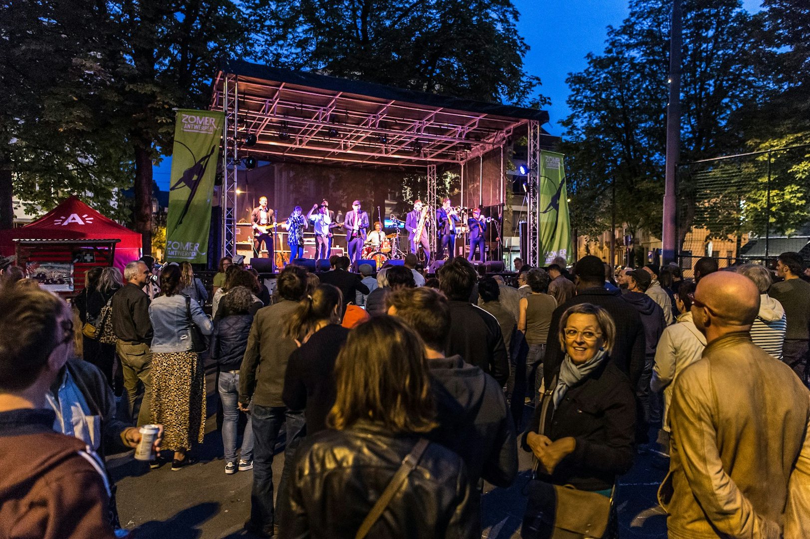
[[[328,199],[341,222],[358,199],[371,229],[382,220],[386,233],[396,231],[390,216],[405,220],[414,199],[435,211],[450,195],[452,206],[481,207],[501,226],[509,152],[516,140],[527,137],[525,259],[539,262],[538,171],[541,140],[547,135],[540,127],[548,122],[545,111],[248,62],[224,64],[215,77],[210,108],[225,115],[218,238],[223,255],[254,255],[244,224],[262,195],[279,221],[296,205],[306,214]],[[258,166],[248,169],[249,164]],[[339,237],[340,229],[335,232],[333,253],[340,254],[346,240]],[[498,232],[492,226],[488,233],[490,259],[500,258]],[[457,255],[467,252],[462,240],[457,240]],[[431,241],[435,253],[437,237]],[[289,252],[283,233],[275,243],[275,250]],[[407,233],[400,248],[407,251]],[[305,233],[305,257],[313,255],[310,250],[311,228]]]

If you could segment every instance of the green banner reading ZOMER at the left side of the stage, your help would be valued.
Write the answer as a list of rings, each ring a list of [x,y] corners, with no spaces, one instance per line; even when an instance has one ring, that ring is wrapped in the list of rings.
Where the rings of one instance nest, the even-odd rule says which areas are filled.
[[[169,262],[207,263],[223,121],[221,112],[177,111],[166,219],[165,258]]]

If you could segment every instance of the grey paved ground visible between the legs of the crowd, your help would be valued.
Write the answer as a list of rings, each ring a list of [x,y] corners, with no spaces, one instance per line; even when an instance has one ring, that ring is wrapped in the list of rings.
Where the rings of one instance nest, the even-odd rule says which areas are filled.
[[[209,393],[213,375],[208,377]],[[215,400],[209,399],[211,413]],[[220,539],[253,537],[242,531],[250,511],[252,472],[225,475],[222,438],[215,418],[207,422],[203,444],[195,448],[200,461],[189,468],[171,471],[170,464],[150,470],[133,460],[131,454],[112,456],[108,465],[117,482],[117,506],[124,528],[134,529],[138,539]],[[279,447],[280,449],[280,447]],[[283,452],[273,463],[278,479]],[[522,512],[526,505],[521,490],[528,480],[531,456],[520,451],[521,473],[509,489],[487,486],[482,500],[484,536],[489,539],[519,537]],[[655,492],[664,471],[654,457],[637,456],[633,469],[620,480],[617,507],[620,537],[666,537],[666,524],[655,501]]]

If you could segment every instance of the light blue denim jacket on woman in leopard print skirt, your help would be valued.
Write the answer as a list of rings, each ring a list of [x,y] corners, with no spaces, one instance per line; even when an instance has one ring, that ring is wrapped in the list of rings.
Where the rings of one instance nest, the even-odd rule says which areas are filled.
[[[185,310],[184,295],[173,294],[153,299],[149,304],[149,319],[154,332],[152,352],[185,352],[191,349],[191,323]],[[191,319],[203,335],[211,335],[214,324],[194,299],[191,300]]]

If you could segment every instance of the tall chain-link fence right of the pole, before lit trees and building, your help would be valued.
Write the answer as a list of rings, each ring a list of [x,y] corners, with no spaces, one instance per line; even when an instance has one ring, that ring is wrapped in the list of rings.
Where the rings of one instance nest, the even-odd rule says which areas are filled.
[[[810,144],[701,160],[678,169],[680,267],[810,260]]]

